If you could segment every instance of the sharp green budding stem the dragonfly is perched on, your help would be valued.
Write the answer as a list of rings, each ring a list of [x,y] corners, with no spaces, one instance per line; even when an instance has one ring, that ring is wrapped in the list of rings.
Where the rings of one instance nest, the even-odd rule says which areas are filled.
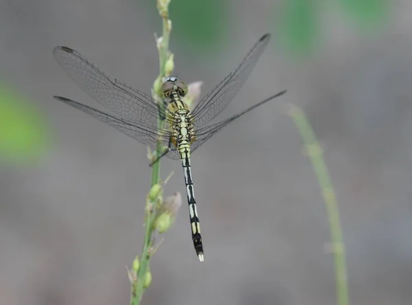
[[[163,32],[162,39],[159,48],[159,77],[158,80],[163,80],[166,75],[165,64],[169,56],[169,37],[170,37],[170,21],[168,19],[168,1],[157,0],[157,8],[159,14],[163,20]],[[153,88],[152,95],[157,101],[161,101],[161,92],[160,88]],[[161,106],[159,106],[160,109]],[[160,119],[160,113],[157,120],[157,127],[159,130],[163,129],[163,121]],[[163,145],[161,143],[157,144],[155,158],[158,158],[161,155],[161,149]],[[157,160],[155,164],[152,165],[152,178],[151,178],[151,187],[159,183],[159,173],[160,173],[160,160]],[[152,255],[153,241],[152,241],[152,232],[153,232],[153,222],[156,218],[155,205],[157,202],[151,202],[149,197],[146,199],[146,230],[144,234],[144,245],[141,251],[141,262],[135,278],[132,279],[131,283],[131,295],[130,295],[130,304],[139,305],[141,302],[141,297],[144,293],[144,278],[146,272],[148,271],[150,257]]]

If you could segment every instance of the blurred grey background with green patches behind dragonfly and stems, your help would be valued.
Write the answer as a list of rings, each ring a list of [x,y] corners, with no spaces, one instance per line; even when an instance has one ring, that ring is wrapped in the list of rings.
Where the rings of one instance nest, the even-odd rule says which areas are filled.
[[[319,186],[284,112],[302,106],[336,188],[351,304],[412,302],[412,2],[172,0],[175,73],[232,71],[262,34],[268,48],[229,117],[192,156],[205,263],[185,202],[152,259],[143,304],[334,304]],[[125,266],[141,252],[146,147],[62,95],[103,109],[63,71],[56,45],[150,94],[159,73],[155,0],[0,0],[0,302],[128,304]],[[181,164],[165,195],[184,194]]]

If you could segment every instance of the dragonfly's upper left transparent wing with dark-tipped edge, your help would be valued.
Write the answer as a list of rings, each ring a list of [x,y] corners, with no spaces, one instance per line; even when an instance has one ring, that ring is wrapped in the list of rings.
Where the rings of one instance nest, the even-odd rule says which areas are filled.
[[[157,127],[157,101],[100,70],[80,53],[68,47],[55,47],[54,58],[73,82],[93,99],[121,117],[151,127]],[[167,109],[163,117],[171,117]]]

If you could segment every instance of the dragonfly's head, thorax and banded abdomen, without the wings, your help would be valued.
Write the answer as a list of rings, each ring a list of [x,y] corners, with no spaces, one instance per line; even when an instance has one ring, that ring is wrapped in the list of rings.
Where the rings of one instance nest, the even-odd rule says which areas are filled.
[[[173,119],[170,120],[173,132],[170,138],[170,147],[174,146],[179,150],[183,172],[185,173],[185,184],[187,203],[189,204],[190,224],[192,227],[192,240],[194,249],[201,262],[203,262],[203,244],[201,236],[201,225],[199,223],[196,199],[194,199],[194,185],[192,180],[192,171],[190,169],[190,144],[195,141],[193,117],[186,103],[182,100],[187,93],[185,82],[178,80],[177,77],[167,77],[161,87],[163,101],[167,103],[168,110],[173,113]]]

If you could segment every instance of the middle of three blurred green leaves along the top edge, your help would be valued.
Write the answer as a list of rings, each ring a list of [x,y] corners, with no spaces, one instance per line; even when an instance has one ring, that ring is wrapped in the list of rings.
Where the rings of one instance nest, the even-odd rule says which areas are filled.
[[[317,1],[285,0],[280,12],[279,39],[293,53],[306,53],[314,46],[317,34]]]

